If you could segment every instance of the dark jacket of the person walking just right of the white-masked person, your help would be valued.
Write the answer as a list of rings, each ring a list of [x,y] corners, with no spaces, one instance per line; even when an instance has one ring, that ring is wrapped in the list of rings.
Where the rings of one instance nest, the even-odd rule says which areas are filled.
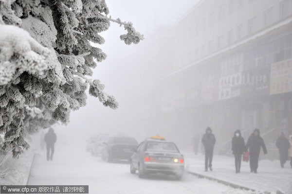
[[[258,133],[257,136],[255,136],[255,132]],[[259,155],[260,147],[263,148],[264,154],[267,154],[265,142],[262,137],[259,136],[259,129],[255,129],[254,133],[249,137],[246,143],[246,149],[249,149],[250,155]]]

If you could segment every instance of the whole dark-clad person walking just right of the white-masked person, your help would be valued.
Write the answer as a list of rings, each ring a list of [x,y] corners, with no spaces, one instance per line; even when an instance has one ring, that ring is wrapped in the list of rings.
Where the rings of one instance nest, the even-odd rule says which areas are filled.
[[[259,129],[255,129],[254,133],[249,137],[246,143],[246,149],[249,149],[251,172],[257,173],[258,157],[260,148],[263,148],[264,154],[267,154],[267,148],[262,137],[259,136]]]

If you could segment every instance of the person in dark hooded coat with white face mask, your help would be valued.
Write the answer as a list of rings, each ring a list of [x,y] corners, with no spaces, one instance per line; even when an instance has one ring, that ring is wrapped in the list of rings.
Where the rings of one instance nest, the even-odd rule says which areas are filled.
[[[231,148],[234,157],[235,157],[235,170],[236,173],[240,173],[241,166],[241,156],[246,151],[245,142],[243,137],[241,137],[240,130],[236,130],[234,137],[232,138],[232,148]]]

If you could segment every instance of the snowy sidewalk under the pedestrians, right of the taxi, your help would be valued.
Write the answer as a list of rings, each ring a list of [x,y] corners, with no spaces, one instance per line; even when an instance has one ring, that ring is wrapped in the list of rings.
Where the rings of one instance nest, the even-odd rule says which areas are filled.
[[[213,157],[213,171],[204,171],[204,156],[184,153],[187,171],[202,176],[209,176],[232,184],[248,187],[256,191],[277,190],[285,194],[292,194],[292,168],[287,161],[285,168],[281,168],[279,161],[260,160],[258,173],[250,172],[248,162],[241,162],[241,173],[235,173],[234,158],[227,156]]]

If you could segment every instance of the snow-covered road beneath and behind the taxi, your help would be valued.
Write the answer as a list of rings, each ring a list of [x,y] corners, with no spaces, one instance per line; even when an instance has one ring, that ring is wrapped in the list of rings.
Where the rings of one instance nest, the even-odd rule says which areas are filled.
[[[71,150],[71,152],[70,152]],[[64,154],[66,153],[66,154]],[[153,175],[140,179],[129,173],[128,163],[107,163],[83,149],[56,147],[53,161],[45,153],[35,156],[28,185],[89,185],[90,194],[246,194],[217,182],[184,175]]]

